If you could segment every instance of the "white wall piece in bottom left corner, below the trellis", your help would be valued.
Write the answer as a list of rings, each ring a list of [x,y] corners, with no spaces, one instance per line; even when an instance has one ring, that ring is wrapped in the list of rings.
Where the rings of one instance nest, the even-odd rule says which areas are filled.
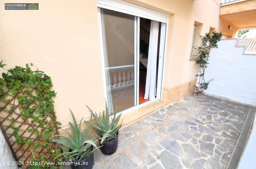
[[[16,165],[8,165],[8,162],[13,162],[13,154],[5,141],[5,138],[0,131],[0,169],[18,169]]]

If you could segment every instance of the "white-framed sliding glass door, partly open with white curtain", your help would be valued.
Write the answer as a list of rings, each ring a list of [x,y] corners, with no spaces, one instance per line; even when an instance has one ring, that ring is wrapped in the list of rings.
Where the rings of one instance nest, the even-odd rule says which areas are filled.
[[[105,97],[111,113],[142,104],[140,100],[160,100],[162,93],[166,24],[122,12],[98,7]],[[147,42],[140,36],[141,27],[148,30]],[[145,43],[147,51],[141,54]]]

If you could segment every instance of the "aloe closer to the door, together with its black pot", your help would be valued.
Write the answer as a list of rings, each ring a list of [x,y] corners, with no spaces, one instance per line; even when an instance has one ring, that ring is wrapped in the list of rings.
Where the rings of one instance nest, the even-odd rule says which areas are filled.
[[[116,116],[115,111],[114,116],[110,121],[107,103],[106,111],[103,111],[103,113],[99,115],[97,115],[96,112],[93,113],[93,110],[91,110],[89,107],[88,109],[89,112],[91,112],[91,117],[94,117],[94,120],[92,120],[89,125],[93,126],[99,134],[98,137],[100,140],[101,152],[105,155],[114,154],[118,146],[118,131],[122,126],[122,122],[121,124],[118,124],[121,114]]]

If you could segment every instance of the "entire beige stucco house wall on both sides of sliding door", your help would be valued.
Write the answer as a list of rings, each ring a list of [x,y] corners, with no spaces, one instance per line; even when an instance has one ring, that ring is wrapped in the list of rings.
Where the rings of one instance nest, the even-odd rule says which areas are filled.
[[[189,61],[194,22],[229,35],[229,23],[219,19],[214,0],[126,0],[169,15],[165,56],[165,90],[195,80],[197,67]],[[4,10],[0,1],[0,60],[7,68],[34,63],[53,79],[58,93],[55,110],[63,126],[71,120],[89,117],[85,105],[95,111],[104,107],[100,39],[96,0],[34,0],[39,10]],[[19,2],[27,2],[25,0]],[[170,92],[175,93],[175,92]],[[172,96],[170,96],[172,97]]]

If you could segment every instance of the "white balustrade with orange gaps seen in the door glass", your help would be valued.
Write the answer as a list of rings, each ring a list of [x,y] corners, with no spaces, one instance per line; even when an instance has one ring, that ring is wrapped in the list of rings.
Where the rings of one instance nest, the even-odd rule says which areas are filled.
[[[111,90],[134,85],[134,65],[106,68],[109,70]]]

